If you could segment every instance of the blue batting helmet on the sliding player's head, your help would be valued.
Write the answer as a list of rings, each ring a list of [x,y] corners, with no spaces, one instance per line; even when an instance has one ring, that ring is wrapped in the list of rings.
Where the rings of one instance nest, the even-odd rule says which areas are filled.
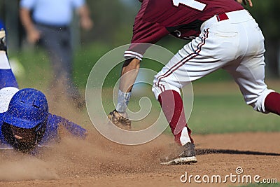
[[[48,116],[48,102],[39,90],[25,88],[10,99],[3,121],[15,127],[31,129],[45,122]]]

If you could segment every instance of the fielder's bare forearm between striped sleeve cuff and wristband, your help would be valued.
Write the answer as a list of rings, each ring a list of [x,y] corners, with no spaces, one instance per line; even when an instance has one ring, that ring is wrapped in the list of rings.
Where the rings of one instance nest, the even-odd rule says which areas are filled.
[[[136,58],[125,61],[122,69],[122,77],[120,78],[120,90],[122,92],[130,92],[132,90],[132,86],[139,72],[140,62]]]

